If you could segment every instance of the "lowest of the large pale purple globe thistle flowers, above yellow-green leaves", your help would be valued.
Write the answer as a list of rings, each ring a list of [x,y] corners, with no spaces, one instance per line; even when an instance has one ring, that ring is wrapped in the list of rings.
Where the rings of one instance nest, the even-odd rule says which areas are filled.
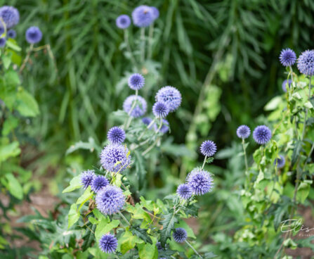
[[[107,185],[96,195],[96,205],[98,210],[105,215],[112,215],[122,209],[125,197],[122,189]]]

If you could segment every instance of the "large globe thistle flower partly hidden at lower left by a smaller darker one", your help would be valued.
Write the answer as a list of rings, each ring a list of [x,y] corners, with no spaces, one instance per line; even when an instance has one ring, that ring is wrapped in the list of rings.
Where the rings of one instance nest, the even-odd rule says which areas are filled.
[[[167,86],[157,91],[156,100],[164,101],[169,106],[170,112],[173,112],[181,105],[182,97],[178,89]]]

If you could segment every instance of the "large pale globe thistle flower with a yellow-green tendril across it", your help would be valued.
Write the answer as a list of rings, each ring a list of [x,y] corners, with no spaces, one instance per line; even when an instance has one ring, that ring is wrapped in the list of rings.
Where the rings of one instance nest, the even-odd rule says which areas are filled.
[[[105,170],[122,172],[131,163],[129,149],[121,144],[108,144],[100,153],[100,163]]]

